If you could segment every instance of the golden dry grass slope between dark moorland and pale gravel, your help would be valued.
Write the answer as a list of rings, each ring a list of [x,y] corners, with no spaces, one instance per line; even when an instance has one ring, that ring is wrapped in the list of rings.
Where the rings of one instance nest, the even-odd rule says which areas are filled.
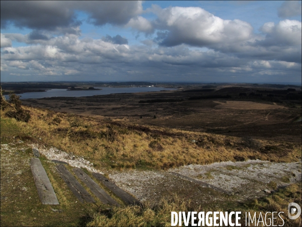
[[[47,109],[23,108],[30,111],[30,121],[10,119],[10,124],[32,138],[41,138],[48,146],[90,158],[96,168],[167,169],[247,159],[292,162],[300,156],[300,144],[176,129],[167,131],[160,127],[129,126]],[[5,110],[1,118],[8,119]]]

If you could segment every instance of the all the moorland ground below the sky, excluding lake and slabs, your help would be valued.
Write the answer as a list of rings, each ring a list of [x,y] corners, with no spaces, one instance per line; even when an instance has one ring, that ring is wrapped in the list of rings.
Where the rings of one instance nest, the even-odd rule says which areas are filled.
[[[300,86],[164,86],[178,90],[24,99],[19,107],[12,99],[1,111],[2,225],[159,226],[171,224],[172,210],[287,214],[289,201],[301,204]],[[14,118],[17,110],[30,119]],[[41,152],[60,205],[39,201],[32,148]],[[121,207],[97,198],[79,204],[53,157],[68,162],[70,172],[74,161],[85,160],[92,179],[91,171],[104,173],[142,205],[124,204],[103,186]],[[301,221],[282,217],[286,226]]]

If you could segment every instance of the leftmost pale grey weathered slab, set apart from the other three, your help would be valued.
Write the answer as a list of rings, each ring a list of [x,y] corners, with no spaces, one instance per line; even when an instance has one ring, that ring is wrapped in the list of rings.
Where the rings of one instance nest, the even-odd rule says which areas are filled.
[[[38,190],[42,204],[58,205],[58,199],[54,193],[49,178],[39,158],[30,159],[30,168]]]

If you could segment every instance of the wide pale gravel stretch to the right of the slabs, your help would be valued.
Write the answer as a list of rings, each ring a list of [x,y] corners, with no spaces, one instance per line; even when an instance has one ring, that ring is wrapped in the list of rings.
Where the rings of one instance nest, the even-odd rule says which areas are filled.
[[[161,195],[177,192],[188,194],[192,188],[198,188],[204,195],[205,187],[172,175],[175,172],[195,180],[222,188],[234,193],[234,199],[262,197],[265,190],[273,192],[270,182],[277,187],[287,186],[290,183],[301,181],[301,162],[274,163],[261,160],[248,160],[243,162],[219,162],[209,165],[186,165],[165,171],[124,171],[110,174],[115,183],[132,193],[140,200],[152,200]],[[221,193],[210,192],[214,199],[221,199]],[[198,194],[198,193],[197,193]],[[222,196],[223,197],[223,196]],[[205,199],[203,196],[193,196],[195,200]],[[212,198],[213,199],[213,198]]]

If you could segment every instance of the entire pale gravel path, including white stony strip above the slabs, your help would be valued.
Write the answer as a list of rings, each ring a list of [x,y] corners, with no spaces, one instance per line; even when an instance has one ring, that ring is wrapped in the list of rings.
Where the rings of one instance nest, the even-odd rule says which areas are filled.
[[[87,168],[90,172],[104,174],[93,168],[93,163],[84,157],[66,153],[57,148],[46,148],[37,144],[27,147],[36,148],[40,154],[49,160],[65,161],[73,167]],[[16,152],[10,144],[2,144],[1,149]],[[20,147],[18,148],[20,149]],[[2,157],[2,165],[6,165]],[[28,163],[26,163],[28,165]],[[4,166],[2,166],[4,167]],[[20,172],[22,172],[20,170]],[[233,193],[228,196],[212,188],[201,186],[190,180],[185,180],[171,172],[198,180]],[[19,172],[14,169],[14,174]],[[109,172],[108,172],[109,173]],[[162,196],[178,193],[194,199],[196,203],[205,201],[226,201],[258,198],[274,192],[272,184],[284,187],[290,183],[301,181],[301,161],[292,163],[275,163],[261,160],[242,162],[217,162],[209,165],[185,165],[169,171],[111,171],[109,177],[121,189],[129,192],[140,201],[158,200]],[[267,192],[265,192],[265,190]]]

